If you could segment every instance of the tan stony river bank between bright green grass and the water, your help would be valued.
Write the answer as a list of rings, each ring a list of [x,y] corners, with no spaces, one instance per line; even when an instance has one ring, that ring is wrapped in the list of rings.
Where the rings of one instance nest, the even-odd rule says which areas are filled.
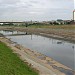
[[[52,58],[24,48],[23,46],[4,37],[1,37],[0,41],[7,44],[7,46],[9,46],[14,53],[17,53],[25,63],[28,63],[33,68],[37,69],[40,75],[74,75],[74,71]]]

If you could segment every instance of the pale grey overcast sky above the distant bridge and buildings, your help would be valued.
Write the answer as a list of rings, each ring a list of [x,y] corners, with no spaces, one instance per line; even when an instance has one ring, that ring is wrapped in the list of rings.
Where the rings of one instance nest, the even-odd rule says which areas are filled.
[[[71,20],[75,0],[0,0],[0,21]]]

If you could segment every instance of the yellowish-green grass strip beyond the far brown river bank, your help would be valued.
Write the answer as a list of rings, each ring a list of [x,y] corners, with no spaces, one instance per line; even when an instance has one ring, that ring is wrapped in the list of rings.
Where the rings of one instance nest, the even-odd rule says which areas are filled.
[[[1,27],[22,27],[24,28],[25,26],[1,26]],[[26,28],[26,27],[25,27]],[[29,25],[27,28],[50,28],[50,29],[71,29],[75,30],[75,25],[46,25],[46,24],[41,24],[41,25]]]

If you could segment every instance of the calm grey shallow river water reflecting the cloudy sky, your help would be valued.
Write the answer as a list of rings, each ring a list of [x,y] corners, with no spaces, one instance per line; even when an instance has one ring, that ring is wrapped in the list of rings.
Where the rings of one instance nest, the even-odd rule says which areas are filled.
[[[2,33],[5,34],[6,32],[3,31]],[[8,33],[5,35],[8,35]],[[11,38],[12,41],[17,42],[18,44],[21,44],[24,47],[27,47],[34,51],[38,51],[72,69],[75,69],[75,44],[73,43],[34,34],[7,36],[7,38]]]

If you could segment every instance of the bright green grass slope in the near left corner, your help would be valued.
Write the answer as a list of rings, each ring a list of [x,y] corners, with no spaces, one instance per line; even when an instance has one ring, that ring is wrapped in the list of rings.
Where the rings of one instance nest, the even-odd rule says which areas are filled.
[[[38,75],[38,73],[0,42],[0,75]]]

